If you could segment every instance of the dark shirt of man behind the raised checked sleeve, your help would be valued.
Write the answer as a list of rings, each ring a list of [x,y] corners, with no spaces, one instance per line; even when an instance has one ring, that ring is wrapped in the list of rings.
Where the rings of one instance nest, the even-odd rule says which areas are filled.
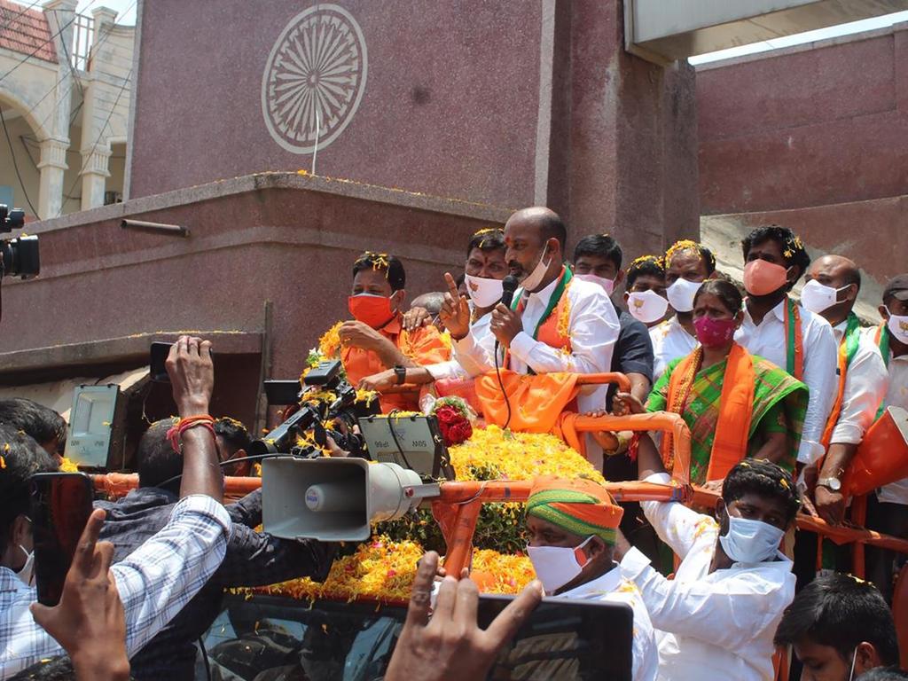
[[[101,538],[114,543],[114,561],[128,555],[163,526],[176,496],[165,489],[134,489],[115,502],[99,501],[107,511]],[[233,531],[227,554],[208,584],[183,611],[132,656],[133,678],[139,681],[191,681],[197,648],[195,641],[221,612],[223,589],[260,587],[296,577],[321,581],[328,576],[335,545],[302,539],[281,539],[256,532],[262,524],[262,490],[227,506]]]

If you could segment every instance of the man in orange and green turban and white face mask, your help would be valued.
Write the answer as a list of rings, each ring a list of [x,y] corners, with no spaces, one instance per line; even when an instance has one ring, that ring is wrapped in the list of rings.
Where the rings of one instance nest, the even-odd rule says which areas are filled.
[[[653,626],[643,597],[614,560],[623,512],[597,482],[539,477],[527,500],[527,553],[547,596],[633,609],[633,677],[648,681],[658,666]]]

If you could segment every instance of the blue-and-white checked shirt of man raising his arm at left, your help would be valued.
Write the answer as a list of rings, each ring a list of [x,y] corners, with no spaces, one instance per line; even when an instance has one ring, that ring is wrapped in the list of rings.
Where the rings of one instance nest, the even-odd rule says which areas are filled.
[[[132,656],[195,596],[221,565],[231,519],[210,497],[183,498],[163,529],[111,567],[126,616]],[[35,623],[35,587],[0,568],[0,678],[14,676],[63,648]]]

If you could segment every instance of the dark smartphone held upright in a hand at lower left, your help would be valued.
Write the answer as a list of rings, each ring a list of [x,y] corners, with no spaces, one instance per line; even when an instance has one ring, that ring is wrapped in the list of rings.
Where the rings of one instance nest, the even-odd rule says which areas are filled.
[[[38,602],[54,607],[92,514],[94,486],[84,473],[35,473],[30,483]]]

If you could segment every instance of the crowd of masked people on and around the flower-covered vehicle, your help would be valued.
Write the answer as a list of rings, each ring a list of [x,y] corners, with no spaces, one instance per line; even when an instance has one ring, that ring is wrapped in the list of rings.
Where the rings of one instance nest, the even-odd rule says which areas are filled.
[[[868,548],[867,582],[818,573],[826,552],[821,561],[817,537],[794,532],[798,513],[847,522],[846,474],[864,439],[887,407],[908,409],[908,274],[887,282],[880,319],[862,321],[858,266],[838,254],[812,262],[776,225],[742,243],[742,285],[691,241],[627,265],[607,235],[568,252],[564,223],[541,207],[465,245],[462,275],[439,273],[441,291],[410,305],[398,258],[353,263],[352,319],[338,330],[348,380],[379,392],[385,412],[458,395],[487,423],[536,432],[558,432],[565,413],[676,413],[689,481],[716,508],[619,505],[587,479],[533,480],[538,581],[483,630],[477,587],[437,581],[430,552],[385,678],[484,676],[543,595],[629,606],[635,681],[773,679],[788,647],[805,681],[908,677],[890,610],[898,555]],[[210,344],[181,338],[167,370],[178,417],[143,435],[139,488],[96,502],[53,608],[35,604],[27,483],[58,468],[66,425],[28,400],[0,401],[0,678],[191,679],[225,588],[328,574],[334,545],[255,529],[261,490],[222,505],[222,468],[250,472],[228,463],[249,436],[208,415]],[[609,372],[625,388],[577,379]],[[580,445],[608,480],[660,484],[673,447],[668,434],[631,431]],[[868,495],[868,527],[908,538],[908,479],[887,482]]]

